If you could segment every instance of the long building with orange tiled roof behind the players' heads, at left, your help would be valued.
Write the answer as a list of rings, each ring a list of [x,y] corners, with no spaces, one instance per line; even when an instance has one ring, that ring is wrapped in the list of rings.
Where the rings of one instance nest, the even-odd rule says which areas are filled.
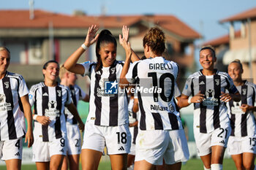
[[[201,37],[173,15],[64,15],[39,9],[0,10],[0,15],[0,45],[11,51],[10,72],[22,74],[29,86],[42,80],[45,61],[55,59],[64,63],[84,42],[92,24],[99,26],[99,30],[109,29],[117,40],[121,27],[129,26],[129,41],[140,56],[143,56],[143,35],[148,28],[159,26],[167,40],[165,57],[178,63],[180,77],[194,65],[194,41]],[[95,47],[90,47],[80,62],[95,60],[94,50]],[[117,60],[124,58],[124,50],[118,45]],[[78,82],[82,87],[83,81]]]

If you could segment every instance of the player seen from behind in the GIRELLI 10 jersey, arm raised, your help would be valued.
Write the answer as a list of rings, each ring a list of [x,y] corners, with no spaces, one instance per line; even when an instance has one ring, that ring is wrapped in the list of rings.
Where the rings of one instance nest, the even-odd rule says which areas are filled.
[[[181,169],[181,162],[189,158],[189,150],[173,95],[178,65],[162,57],[165,34],[157,27],[151,28],[143,38],[146,59],[130,67],[132,49],[127,39],[121,45],[127,58],[120,84],[136,82],[140,89],[135,170],[154,169],[163,160],[165,169]]]

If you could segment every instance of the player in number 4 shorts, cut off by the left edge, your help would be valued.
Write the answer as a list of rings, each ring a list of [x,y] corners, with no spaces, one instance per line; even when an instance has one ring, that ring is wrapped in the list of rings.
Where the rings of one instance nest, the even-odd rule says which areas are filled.
[[[28,147],[34,142],[29,89],[22,76],[7,71],[10,59],[7,47],[0,47],[0,158],[7,170],[21,168],[22,137],[26,131],[24,115],[28,123],[25,142]]]

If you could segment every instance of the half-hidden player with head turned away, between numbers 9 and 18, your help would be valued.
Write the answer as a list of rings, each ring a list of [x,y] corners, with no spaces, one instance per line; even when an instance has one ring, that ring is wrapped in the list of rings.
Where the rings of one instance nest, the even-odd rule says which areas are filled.
[[[87,95],[78,85],[75,84],[77,76],[75,73],[67,71],[62,65],[59,71],[59,78],[61,85],[69,88],[71,91],[71,98],[75,107],[78,106],[78,101],[89,102],[89,95]],[[81,137],[79,133],[78,121],[65,107],[64,114],[66,116],[67,125],[67,156],[64,158],[61,169],[78,170],[79,157],[81,152]]]

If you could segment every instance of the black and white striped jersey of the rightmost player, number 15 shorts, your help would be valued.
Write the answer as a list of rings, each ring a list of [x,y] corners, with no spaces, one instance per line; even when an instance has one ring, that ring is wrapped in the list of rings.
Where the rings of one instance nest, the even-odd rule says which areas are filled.
[[[256,133],[255,116],[252,111],[243,112],[241,104],[255,106],[256,85],[252,82],[244,82],[244,85],[236,86],[241,94],[241,101],[230,101],[227,104],[230,112],[231,136],[254,136]]]

